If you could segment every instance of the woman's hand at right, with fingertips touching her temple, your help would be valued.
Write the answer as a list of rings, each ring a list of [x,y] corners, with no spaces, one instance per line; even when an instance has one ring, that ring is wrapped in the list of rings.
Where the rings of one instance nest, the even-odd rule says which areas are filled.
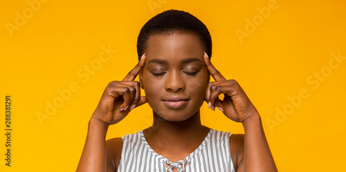
[[[215,79],[210,82],[206,92],[208,107],[215,111],[215,106],[222,111],[226,117],[235,122],[244,122],[258,112],[245,94],[242,87],[234,79],[226,80],[224,76],[210,63],[209,57],[204,52],[204,62],[209,73]],[[224,99],[219,95],[224,94]]]

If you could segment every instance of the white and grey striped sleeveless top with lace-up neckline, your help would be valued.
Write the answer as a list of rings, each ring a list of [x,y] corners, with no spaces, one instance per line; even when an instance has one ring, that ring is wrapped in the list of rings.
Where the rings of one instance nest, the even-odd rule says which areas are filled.
[[[156,153],[145,140],[143,131],[125,135],[122,137],[118,172],[172,172],[172,169],[179,172],[235,172],[230,157],[230,135],[229,132],[210,129],[201,145],[178,162],[170,162]]]

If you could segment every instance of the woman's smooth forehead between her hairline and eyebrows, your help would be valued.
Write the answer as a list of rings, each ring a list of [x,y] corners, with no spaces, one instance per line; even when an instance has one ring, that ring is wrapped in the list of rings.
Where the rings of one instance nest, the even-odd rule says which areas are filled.
[[[182,61],[185,58],[203,59],[203,47],[191,32],[165,32],[149,37],[145,50],[147,60]]]

